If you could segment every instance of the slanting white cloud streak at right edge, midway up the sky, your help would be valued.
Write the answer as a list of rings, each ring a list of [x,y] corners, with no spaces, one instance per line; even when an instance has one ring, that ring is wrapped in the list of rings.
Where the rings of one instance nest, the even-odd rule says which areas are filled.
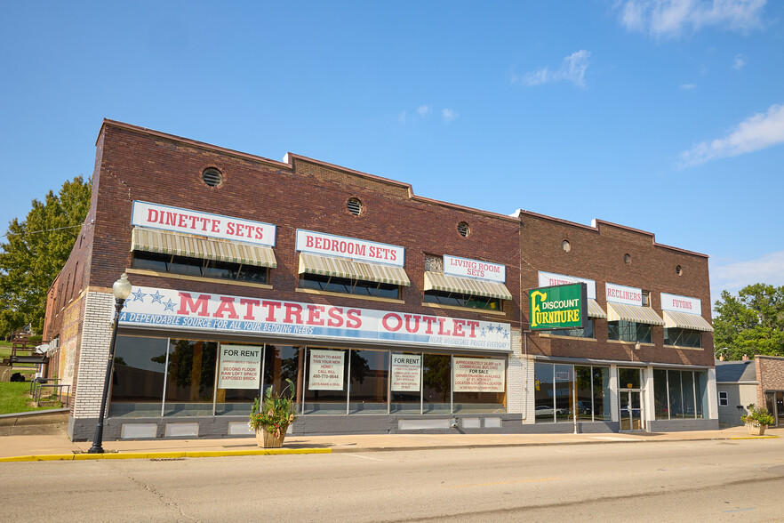
[[[772,105],[740,122],[724,138],[702,141],[680,155],[679,167],[702,165],[710,160],[739,155],[784,143],[784,106]]]

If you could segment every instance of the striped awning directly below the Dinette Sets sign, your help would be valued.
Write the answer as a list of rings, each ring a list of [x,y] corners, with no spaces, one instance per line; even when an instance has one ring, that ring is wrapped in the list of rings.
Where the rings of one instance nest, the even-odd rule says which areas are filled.
[[[167,230],[134,227],[132,251],[174,254],[203,260],[228,261],[243,265],[275,268],[277,261],[272,247],[232,242],[209,237],[196,237]]]

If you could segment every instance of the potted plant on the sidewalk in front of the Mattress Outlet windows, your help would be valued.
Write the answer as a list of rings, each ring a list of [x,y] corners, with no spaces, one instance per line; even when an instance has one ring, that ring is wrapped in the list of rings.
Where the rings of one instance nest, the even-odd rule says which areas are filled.
[[[269,387],[264,398],[253,401],[248,427],[256,432],[259,447],[283,447],[286,430],[297,419],[294,398],[285,394],[286,390],[293,394],[294,382],[289,379],[286,382],[289,384],[280,393],[274,393]]]

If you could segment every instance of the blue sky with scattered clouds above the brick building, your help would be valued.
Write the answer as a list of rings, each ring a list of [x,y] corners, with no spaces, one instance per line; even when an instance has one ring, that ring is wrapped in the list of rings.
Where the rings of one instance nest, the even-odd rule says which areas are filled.
[[[784,2],[5,2],[3,229],[108,117],[784,285]],[[546,268],[542,268],[545,269]]]

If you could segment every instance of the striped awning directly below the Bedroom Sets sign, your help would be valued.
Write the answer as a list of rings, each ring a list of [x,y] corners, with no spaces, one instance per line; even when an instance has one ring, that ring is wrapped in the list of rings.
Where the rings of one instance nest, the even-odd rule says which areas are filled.
[[[300,274],[320,274],[336,278],[362,279],[396,286],[410,286],[411,280],[403,267],[382,265],[380,263],[364,263],[348,258],[319,256],[318,254],[300,253]]]

